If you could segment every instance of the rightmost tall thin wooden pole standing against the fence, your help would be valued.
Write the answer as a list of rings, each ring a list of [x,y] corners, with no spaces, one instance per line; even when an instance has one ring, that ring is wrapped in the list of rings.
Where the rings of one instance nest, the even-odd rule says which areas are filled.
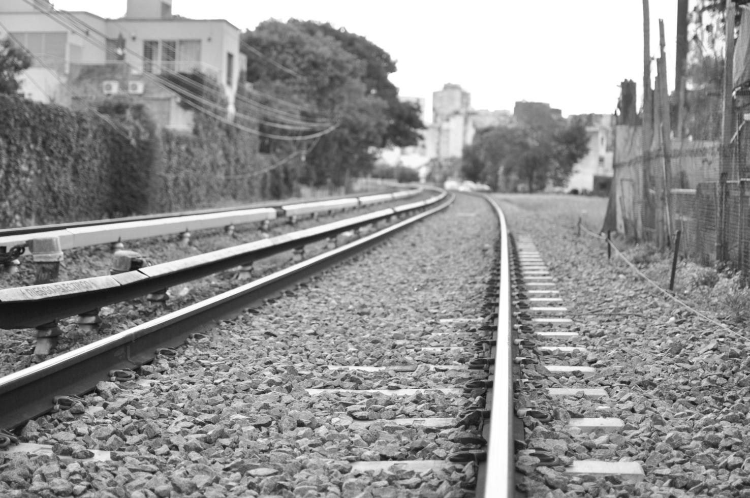
[[[724,55],[724,95],[721,107],[721,156],[718,176],[718,226],[716,229],[716,259],[726,261],[727,254],[727,177],[729,176],[730,145],[734,131],[732,98],[734,68],[734,2],[727,0],[724,10],[727,46]]]

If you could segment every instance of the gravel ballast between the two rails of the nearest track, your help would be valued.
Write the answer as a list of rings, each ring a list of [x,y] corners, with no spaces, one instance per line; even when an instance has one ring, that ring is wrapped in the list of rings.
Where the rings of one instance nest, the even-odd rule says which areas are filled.
[[[468,496],[478,428],[402,426],[457,416],[474,398],[425,390],[481,378],[463,365],[481,317],[496,221],[460,196],[443,213],[285,296],[191,339],[127,383],[102,382],[88,407],[30,422],[23,440],[56,455],[0,453],[2,496]],[[475,327],[474,327],[475,329]],[[434,332],[447,332],[437,335]],[[412,365],[334,371],[328,365]],[[311,395],[308,389],[384,389]],[[77,460],[87,450],[111,461]],[[439,460],[431,469],[360,470],[357,462]],[[25,494],[26,493],[26,494]]]

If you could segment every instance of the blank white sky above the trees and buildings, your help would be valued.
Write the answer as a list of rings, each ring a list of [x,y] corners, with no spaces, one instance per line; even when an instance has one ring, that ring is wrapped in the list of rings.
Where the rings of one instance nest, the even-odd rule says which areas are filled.
[[[117,18],[127,1],[52,3]],[[401,95],[425,98],[428,109],[432,92],[458,83],[475,109],[513,110],[515,101],[541,101],[563,115],[612,113],[626,79],[637,83],[640,105],[640,0],[172,0],[172,13],[226,19],[243,31],[290,17],[347,28],[389,52],[398,65],[392,82]],[[650,1],[653,56],[660,17],[671,90],[676,1]]]

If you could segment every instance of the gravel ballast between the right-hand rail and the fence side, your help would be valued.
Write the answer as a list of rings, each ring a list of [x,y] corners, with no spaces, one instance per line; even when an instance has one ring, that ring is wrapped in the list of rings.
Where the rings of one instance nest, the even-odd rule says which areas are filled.
[[[553,377],[541,365],[525,369],[534,389],[517,402],[548,408],[555,416],[549,423],[526,418],[527,441],[559,455],[562,463],[633,461],[645,474],[634,483],[531,465],[524,469],[530,496],[750,496],[745,338],[699,320],[615,257],[607,260],[600,240],[577,237],[581,213],[598,232],[606,199],[497,198],[514,234],[533,239],[556,278],[561,304],[570,310],[562,316],[574,319],[566,330],[580,334],[569,344],[588,350],[565,356],[537,352],[539,362],[597,369],[586,378]],[[607,397],[553,400],[543,392],[550,387],[603,388]],[[570,417],[616,417],[625,426],[619,433],[583,434],[565,428]]]

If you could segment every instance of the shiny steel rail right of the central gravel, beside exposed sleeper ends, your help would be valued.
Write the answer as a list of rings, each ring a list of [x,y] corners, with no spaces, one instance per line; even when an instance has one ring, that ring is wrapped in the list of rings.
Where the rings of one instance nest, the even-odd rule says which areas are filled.
[[[500,232],[500,268],[497,329],[493,332],[495,344],[490,350],[494,363],[490,366],[493,389],[487,393],[490,407],[490,437],[487,440],[487,460],[478,475],[478,496],[504,498],[514,496],[515,449],[512,383],[513,315],[511,312],[511,266],[508,224],[500,206],[489,196],[484,196],[495,211]]]

